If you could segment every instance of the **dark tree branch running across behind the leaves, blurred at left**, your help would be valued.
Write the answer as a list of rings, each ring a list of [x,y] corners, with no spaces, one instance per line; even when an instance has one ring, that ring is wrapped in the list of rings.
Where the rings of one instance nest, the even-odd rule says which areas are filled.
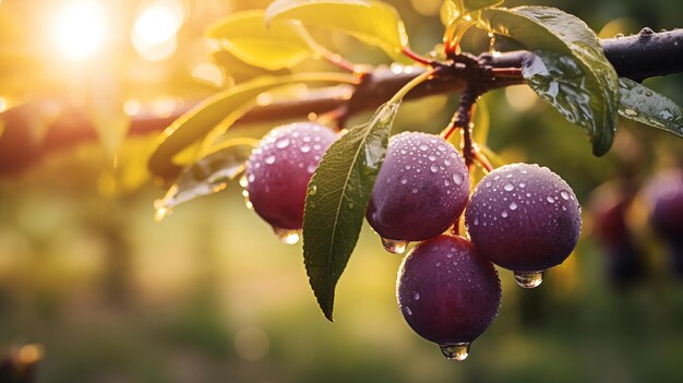
[[[649,28],[644,28],[637,35],[604,39],[601,44],[607,58],[621,76],[642,81],[646,77],[683,72],[683,29],[652,33]],[[496,57],[484,53],[477,59],[493,68],[513,70],[520,68],[530,55],[532,53],[528,51],[505,52]],[[314,91],[311,97],[303,100],[256,106],[237,121],[237,124],[303,119],[311,112],[323,113],[342,106],[347,108],[348,115],[375,109],[423,71],[424,69],[417,67],[410,67],[409,70],[399,73],[379,69],[370,75],[362,87],[354,89],[348,85],[333,86]],[[488,84],[488,88],[522,83],[524,81],[520,76],[505,75],[496,77],[495,82]],[[450,71],[446,75],[419,85],[406,98],[460,92],[464,86],[464,74],[457,70]],[[349,99],[350,92],[352,96]],[[69,148],[97,137],[83,110],[67,103],[58,103],[61,109],[59,119],[48,127],[45,137],[36,141],[28,127],[35,122],[35,115],[44,104],[44,101],[29,103],[0,113],[4,123],[4,132],[0,136],[0,176],[19,172],[50,152]],[[129,136],[161,131],[188,109],[187,105],[182,105],[167,116],[137,115],[131,121]]]

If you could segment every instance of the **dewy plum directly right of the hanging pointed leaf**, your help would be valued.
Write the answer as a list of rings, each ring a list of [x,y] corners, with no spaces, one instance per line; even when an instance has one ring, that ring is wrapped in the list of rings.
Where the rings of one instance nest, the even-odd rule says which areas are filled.
[[[467,168],[453,145],[405,132],[390,139],[366,217],[383,238],[419,241],[447,230],[468,194]]]

